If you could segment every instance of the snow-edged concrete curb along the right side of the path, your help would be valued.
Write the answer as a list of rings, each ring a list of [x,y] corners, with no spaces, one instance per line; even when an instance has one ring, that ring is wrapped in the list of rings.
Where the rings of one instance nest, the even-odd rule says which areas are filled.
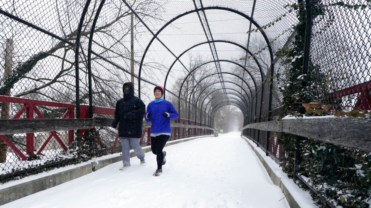
[[[247,144],[249,144],[249,146],[253,149],[253,151],[255,152],[256,156],[259,158],[260,162],[263,164],[263,166],[265,167],[265,170],[267,171],[270,179],[272,180],[273,184],[275,184],[276,186],[280,187],[283,195],[285,195],[286,197],[286,201],[289,203],[290,205],[290,208],[301,208],[298,204],[298,202],[296,201],[296,199],[290,194],[288,188],[286,187],[286,185],[284,184],[284,182],[281,180],[280,177],[278,177],[278,175],[276,175],[276,173],[272,170],[272,168],[269,166],[269,164],[266,162],[266,158],[267,156],[265,155],[261,155],[257,150],[256,148],[251,144],[251,141],[249,139],[247,139],[246,137],[242,137],[246,142]]]

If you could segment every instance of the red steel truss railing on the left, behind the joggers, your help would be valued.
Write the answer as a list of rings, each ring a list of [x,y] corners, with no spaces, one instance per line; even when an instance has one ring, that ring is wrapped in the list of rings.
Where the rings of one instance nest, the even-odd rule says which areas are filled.
[[[18,98],[18,97],[9,97],[9,96],[3,96],[0,95],[0,103],[16,103],[16,104],[23,104],[22,108],[18,110],[14,116],[11,119],[20,119],[21,116],[25,113],[26,119],[34,119],[35,117],[39,119],[46,119],[45,116],[41,113],[39,110],[40,106],[47,106],[47,107],[57,107],[57,108],[66,108],[65,113],[62,115],[63,118],[74,118],[75,114],[75,105],[74,104],[68,104],[68,103],[57,103],[57,102],[51,102],[51,101],[43,101],[43,100],[33,100],[28,98]],[[88,105],[81,105],[81,118],[89,118],[89,106]],[[115,109],[114,108],[106,108],[106,107],[93,107],[93,114],[101,114],[101,115],[114,115]],[[211,130],[209,127],[202,127],[203,124],[195,123],[194,121],[189,121],[187,119],[180,119],[180,123],[177,123],[178,120],[174,120],[175,123],[172,124],[173,131],[171,132],[171,139],[173,140],[175,138],[184,138],[189,137],[192,135],[205,135],[207,130]],[[198,125],[198,126],[196,126]],[[98,132],[95,127],[92,128],[94,132]],[[150,145],[151,143],[151,127],[149,123],[144,122],[144,132],[147,132],[147,145]],[[82,139],[84,136],[88,135],[89,129],[81,129],[80,130],[80,139]],[[146,134],[144,133],[141,142],[144,139],[144,136]],[[8,147],[13,150],[13,152],[20,157],[21,160],[27,160],[29,158],[33,158],[36,155],[41,154],[41,152],[45,149],[48,142],[55,138],[56,141],[60,144],[60,146],[63,148],[64,151],[67,151],[68,145],[74,141],[74,130],[68,130],[68,144],[63,143],[63,141],[59,137],[59,133],[57,131],[50,131],[49,135],[46,137],[46,140],[43,141],[43,144],[40,145],[38,150],[34,150],[34,140],[35,135],[34,132],[27,132],[26,133],[26,152],[21,151],[14,143],[6,136],[6,135],[0,135],[0,141],[2,140],[4,143],[8,145]],[[114,151],[114,148],[117,145],[118,142],[118,134],[116,134],[115,140],[112,144],[112,150]],[[104,144],[102,142],[101,137],[99,134],[96,134],[96,140],[99,142],[101,148],[104,147]],[[36,154],[35,154],[36,152]]]

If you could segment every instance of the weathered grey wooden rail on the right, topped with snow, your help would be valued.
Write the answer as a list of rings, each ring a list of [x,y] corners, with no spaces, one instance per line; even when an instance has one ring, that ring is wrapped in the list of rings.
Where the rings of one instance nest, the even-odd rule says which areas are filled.
[[[248,124],[241,130],[246,128],[285,132],[371,152],[371,119],[352,117],[290,118]]]

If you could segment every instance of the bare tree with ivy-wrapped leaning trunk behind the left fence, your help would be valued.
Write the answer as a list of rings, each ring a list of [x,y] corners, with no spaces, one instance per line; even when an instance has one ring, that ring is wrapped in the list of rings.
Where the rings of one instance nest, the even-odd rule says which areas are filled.
[[[98,0],[92,1],[81,32],[81,53],[79,53],[81,103],[88,103],[88,54],[86,48],[99,2]],[[43,4],[47,3],[38,4],[40,8],[43,8],[45,7]],[[34,24],[40,24],[39,27],[46,30],[53,27],[53,33],[58,34],[67,42],[75,43],[78,32],[77,24],[72,23],[79,22],[84,4],[78,0],[60,0],[54,6],[52,11],[45,10],[35,14],[40,17],[40,20]],[[131,6],[143,20],[160,17],[161,6],[155,0],[135,1]],[[9,8],[22,18],[22,11],[17,9]],[[52,15],[44,17],[48,12]],[[92,50],[121,68],[127,68],[130,63],[130,45],[125,44],[130,38],[130,14],[131,11],[122,1],[110,1],[102,8],[94,30]],[[14,25],[18,28],[24,27],[16,21],[9,22],[6,27]],[[147,30],[139,21],[136,21],[134,27],[138,33]],[[7,36],[13,37],[14,47],[17,47],[18,53],[12,73],[0,81],[0,95],[12,90],[12,95],[15,97],[32,98],[38,94],[38,98],[44,100],[75,102],[73,96],[76,87],[75,50],[71,44],[53,39],[50,36],[40,36],[38,31],[27,33],[27,30],[13,30]],[[27,36],[29,41],[33,40],[36,43],[32,49],[27,45],[30,42],[24,41]],[[141,40],[137,39],[137,41]],[[128,73],[123,73],[121,69],[112,66],[112,64],[92,56],[92,82],[95,101],[99,105],[114,105],[117,98],[121,97],[122,92],[117,92],[112,88],[120,86],[122,80],[129,76]]]

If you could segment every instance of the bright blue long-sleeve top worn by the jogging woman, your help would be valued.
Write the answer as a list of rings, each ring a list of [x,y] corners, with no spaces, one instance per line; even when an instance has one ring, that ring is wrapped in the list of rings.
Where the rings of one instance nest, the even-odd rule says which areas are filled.
[[[167,118],[163,117],[161,114],[169,113]],[[147,119],[147,113],[152,114],[150,119]],[[163,100],[159,103],[152,101],[147,106],[147,112],[145,120],[147,122],[151,121],[151,133],[160,132],[171,132],[170,119],[178,118],[178,112],[175,110],[174,105],[167,100]]]

